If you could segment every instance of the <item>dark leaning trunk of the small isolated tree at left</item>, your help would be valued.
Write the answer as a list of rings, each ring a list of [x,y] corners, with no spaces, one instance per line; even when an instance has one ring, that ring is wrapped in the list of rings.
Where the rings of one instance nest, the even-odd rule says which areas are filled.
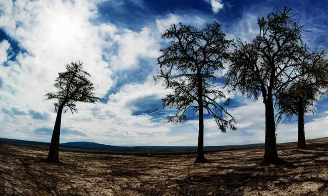
[[[63,112],[64,106],[59,106],[57,111],[57,117],[55,127],[53,128],[51,143],[48,154],[48,162],[58,163],[59,162],[59,135],[60,135],[60,123],[61,113]]]

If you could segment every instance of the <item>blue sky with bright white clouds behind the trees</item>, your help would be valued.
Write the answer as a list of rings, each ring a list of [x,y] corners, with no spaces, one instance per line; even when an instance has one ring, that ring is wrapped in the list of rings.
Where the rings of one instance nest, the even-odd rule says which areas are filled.
[[[172,23],[201,28],[215,20],[228,39],[251,41],[258,34],[257,17],[284,6],[299,13],[308,30],[303,34],[308,46],[325,50],[326,1],[1,1],[0,137],[49,142],[56,113],[51,101],[43,101],[44,95],[56,90],[53,83],[64,65],[79,60],[103,100],[78,103],[78,113],[63,114],[61,142],[196,145],[197,116],[189,114],[185,125],[167,123],[174,110],[162,109],[161,99],[169,91],[152,78],[158,50],[167,45],[160,35]],[[227,95],[238,129],[221,133],[207,116],[204,144],[264,142],[262,97]],[[305,117],[306,138],[328,136],[326,102],[316,103],[317,113]],[[278,142],[297,140],[296,118],[279,125],[277,134]]]

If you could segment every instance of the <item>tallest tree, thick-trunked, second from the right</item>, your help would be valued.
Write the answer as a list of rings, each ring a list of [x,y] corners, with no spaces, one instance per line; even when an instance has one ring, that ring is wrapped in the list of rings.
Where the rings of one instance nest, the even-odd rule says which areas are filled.
[[[265,105],[264,162],[277,163],[275,133],[275,97],[296,78],[301,57],[306,52],[300,26],[292,9],[272,12],[258,18],[259,35],[252,43],[240,39],[234,43],[227,85],[239,89],[249,98],[262,95]]]

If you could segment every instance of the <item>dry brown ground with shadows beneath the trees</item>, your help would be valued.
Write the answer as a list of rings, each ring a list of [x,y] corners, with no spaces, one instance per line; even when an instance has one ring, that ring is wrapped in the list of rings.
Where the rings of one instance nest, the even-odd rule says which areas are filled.
[[[287,163],[261,163],[263,148],[195,155],[105,155],[0,143],[0,195],[328,195],[328,138],[278,145]]]

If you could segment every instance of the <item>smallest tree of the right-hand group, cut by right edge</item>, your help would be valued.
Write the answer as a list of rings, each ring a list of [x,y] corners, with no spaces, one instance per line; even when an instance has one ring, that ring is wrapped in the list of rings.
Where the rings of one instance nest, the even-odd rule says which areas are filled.
[[[306,149],[304,113],[314,113],[314,102],[319,101],[328,90],[328,61],[324,54],[314,52],[306,56],[299,70],[301,76],[278,96],[278,122],[282,114],[289,119],[294,115],[298,117],[298,149]]]

